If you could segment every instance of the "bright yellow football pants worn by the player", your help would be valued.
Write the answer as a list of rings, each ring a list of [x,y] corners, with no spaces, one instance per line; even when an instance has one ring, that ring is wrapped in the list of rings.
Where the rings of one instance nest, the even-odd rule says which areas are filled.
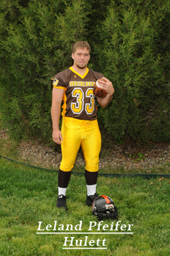
[[[86,170],[97,172],[101,149],[101,134],[97,120],[88,121],[63,117],[62,138],[62,162],[60,165],[62,171],[71,171],[81,146]]]

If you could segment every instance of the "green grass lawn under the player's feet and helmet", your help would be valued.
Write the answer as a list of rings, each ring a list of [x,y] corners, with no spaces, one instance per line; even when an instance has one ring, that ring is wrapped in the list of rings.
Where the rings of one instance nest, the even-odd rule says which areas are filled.
[[[38,222],[42,228],[48,224],[66,229],[67,224],[82,221],[81,232],[90,232],[90,222],[96,222],[91,232],[105,231],[103,225],[117,221],[99,221],[86,206],[86,183],[84,175],[72,175],[67,189],[67,207],[64,212],[56,208],[57,172],[45,172],[0,158],[0,255],[149,255],[168,256],[170,244],[170,189],[169,180],[141,178],[104,178],[99,176],[98,194],[110,196],[119,211],[119,224],[133,224],[133,234],[37,234]],[[59,226],[60,225],[60,226]],[[127,229],[125,230],[127,232]],[[125,232],[122,230],[122,232]],[[45,232],[45,230],[44,230]],[[77,231],[78,232],[78,231]],[[80,232],[80,231],[79,231]],[[129,232],[129,231],[128,231]],[[107,249],[62,249],[65,237],[84,241],[106,239]],[[84,242],[83,242],[84,244]],[[67,245],[69,246],[69,244]],[[86,246],[83,246],[86,247]],[[88,247],[90,247],[88,245]],[[95,247],[97,245],[95,244]]]

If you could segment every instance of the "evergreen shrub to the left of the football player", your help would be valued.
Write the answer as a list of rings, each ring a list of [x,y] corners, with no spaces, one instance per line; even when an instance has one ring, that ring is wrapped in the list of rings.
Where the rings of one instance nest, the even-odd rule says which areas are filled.
[[[71,65],[71,46],[86,39],[83,4],[65,4],[1,2],[1,118],[16,138],[51,137],[51,76]]]

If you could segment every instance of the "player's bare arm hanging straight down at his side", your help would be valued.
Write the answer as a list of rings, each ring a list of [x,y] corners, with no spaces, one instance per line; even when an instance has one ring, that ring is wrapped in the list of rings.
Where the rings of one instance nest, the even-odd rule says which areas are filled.
[[[64,89],[57,89],[53,87],[52,105],[51,105],[51,119],[53,125],[53,142],[62,144],[62,133],[59,131],[59,117],[61,113],[61,103],[64,94]]]

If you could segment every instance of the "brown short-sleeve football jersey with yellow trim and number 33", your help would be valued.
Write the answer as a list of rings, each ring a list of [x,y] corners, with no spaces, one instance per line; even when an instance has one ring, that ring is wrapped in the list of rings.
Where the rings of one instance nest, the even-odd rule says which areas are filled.
[[[72,67],[53,76],[53,87],[64,89],[62,116],[80,120],[97,119],[97,106],[93,87],[103,75],[87,68],[84,76],[75,72]]]

